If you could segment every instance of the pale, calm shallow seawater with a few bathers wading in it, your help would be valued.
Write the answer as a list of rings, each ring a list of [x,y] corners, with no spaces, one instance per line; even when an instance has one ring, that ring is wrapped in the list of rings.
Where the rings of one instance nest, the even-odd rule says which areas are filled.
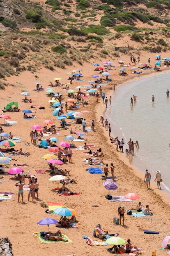
[[[112,97],[111,107],[105,116],[111,123],[112,135],[139,142],[134,156],[127,156],[129,162],[141,171],[148,169],[152,179],[160,170],[164,190],[170,192],[170,98],[166,97],[170,73],[161,73],[120,85]],[[130,98],[137,96],[137,102],[130,106]],[[155,103],[151,102],[152,95]],[[125,143],[125,149],[128,145]]]

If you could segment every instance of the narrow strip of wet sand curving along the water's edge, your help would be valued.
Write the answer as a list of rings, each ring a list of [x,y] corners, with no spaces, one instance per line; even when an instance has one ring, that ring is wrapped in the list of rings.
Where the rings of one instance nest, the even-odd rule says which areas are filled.
[[[148,78],[148,77],[152,77],[152,76],[159,76],[159,75],[161,75],[161,74],[163,74],[163,73],[168,73],[168,72],[170,72],[170,71],[167,71],[167,70],[163,70],[161,73],[156,73],[156,72],[154,72],[154,73],[152,73],[152,74],[145,74],[145,75],[143,75],[142,77],[136,77],[136,78],[129,78],[129,80],[127,80],[126,82],[124,82],[124,83],[119,83],[119,84],[117,84],[116,85],[116,88],[117,88],[117,86],[122,86],[122,85],[129,85],[129,83],[131,82],[131,81],[133,81],[134,79],[135,79],[135,81],[138,81],[138,80],[141,80],[141,79],[146,79],[146,78]],[[115,89],[116,90],[116,89]],[[113,91],[109,91],[108,90],[108,92],[107,92],[107,97],[109,98],[109,97],[112,97],[112,100],[114,99],[114,97],[115,97],[115,95],[114,95],[114,90]],[[106,109],[106,107],[105,107],[105,104],[103,104],[102,106],[98,106],[98,107],[96,107],[96,116],[101,116],[101,114],[103,113],[103,116],[104,117],[106,117],[106,111],[107,111],[107,109]],[[106,119],[106,118],[105,118]],[[99,122],[99,121],[98,121]],[[103,133],[104,133],[104,137],[106,137],[106,140],[108,141],[108,143],[110,143],[110,137],[108,137],[108,131],[106,131],[106,129],[105,129],[105,127],[102,127],[101,126],[101,128],[102,128],[102,130],[103,130]],[[111,135],[113,135],[113,133],[111,132]],[[133,164],[130,164],[129,163],[129,159],[127,159],[126,158],[126,155],[125,154],[120,154],[120,152],[117,152],[116,151],[116,149],[115,149],[115,145],[113,145],[114,147],[113,147],[113,152],[114,153],[117,153],[117,157],[121,160],[121,161],[123,161],[124,162],[124,164],[126,164],[126,166],[128,166],[130,169],[131,169],[131,171],[133,172],[133,173],[135,173],[137,176],[138,176],[138,178],[140,178],[140,179],[142,179],[142,180],[144,180],[144,177],[145,177],[145,173],[142,171],[142,170],[140,170],[137,166],[135,166],[135,165],[133,165]],[[145,186],[146,186],[146,184],[145,184]],[[166,185],[165,185],[166,186]],[[163,187],[165,187],[164,185],[163,185]],[[157,185],[156,185],[156,183],[154,183],[154,180],[152,180],[151,179],[151,188],[154,190],[153,192],[155,192],[156,194],[159,194],[160,196],[161,196],[161,198],[163,199],[163,201],[165,201],[165,203],[168,203],[169,205],[170,205],[170,192],[165,188],[165,191],[163,191],[163,190],[158,190],[158,188],[157,188]],[[147,190],[147,186],[146,186],[146,190]],[[167,192],[166,192],[167,191]]]

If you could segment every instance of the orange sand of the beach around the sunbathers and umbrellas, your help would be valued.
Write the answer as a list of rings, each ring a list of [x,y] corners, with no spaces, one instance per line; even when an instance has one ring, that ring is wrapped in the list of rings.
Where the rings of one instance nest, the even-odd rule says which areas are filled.
[[[146,61],[146,56],[142,56],[141,61]],[[152,66],[154,64],[154,54],[151,55]],[[102,63],[104,60],[101,60]],[[125,62],[129,63],[129,59],[125,59]],[[118,64],[117,64],[118,66]],[[142,248],[142,255],[148,256],[152,255],[152,251],[156,250],[156,255],[165,255],[165,250],[159,250],[161,247],[162,239],[170,235],[169,234],[169,211],[170,211],[170,198],[165,193],[159,191],[156,185],[152,183],[152,190],[147,190],[144,183],[143,173],[131,166],[126,157],[116,152],[115,145],[110,146],[110,140],[108,137],[108,132],[105,128],[101,127],[99,123],[100,116],[105,110],[105,105],[102,103],[101,98],[99,103],[96,103],[96,98],[91,96],[87,100],[88,105],[84,107],[80,105],[78,111],[91,111],[90,113],[82,112],[83,117],[86,119],[87,126],[91,126],[92,119],[95,121],[96,131],[89,131],[85,135],[85,142],[88,145],[95,145],[95,150],[102,148],[104,152],[103,161],[105,164],[113,163],[115,166],[115,175],[117,176],[117,184],[119,186],[118,190],[112,191],[112,195],[124,195],[129,192],[136,192],[140,195],[140,201],[143,205],[149,204],[150,209],[153,211],[153,216],[147,216],[143,218],[135,218],[133,216],[128,216],[125,214],[125,225],[113,225],[113,217],[117,217],[118,206],[125,206],[125,210],[131,208],[131,202],[110,202],[105,198],[108,194],[108,190],[103,187],[103,180],[101,180],[101,175],[90,174],[87,169],[87,165],[82,160],[85,159],[85,154],[83,150],[73,149],[72,161],[73,164],[64,165],[63,168],[70,170],[71,178],[74,178],[77,184],[69,184],[68,187],[71,191],[80,193],[79,195],[73,195],[70,197],[64,197],[56,194],[54,188],[55,183],[50,182],[48,179],[51,177],[48,171],[48,165],[42,156],[48,154],[48,149],[40,149],[35,147],[30,143],[26,146],[26,142],[30,142],[30,127],[34,124],[40,124],[43,126],[43,121],[46,119],[51,119],[55,121],[57,128],[59,127],[59,121],[56,121],[56,117],[52,115],[53,108],[49,107],[46,92],[37,92],[35,89],[35,82],[41,83],[43,88],[48,88],[49,82],[53,81],[55,77],[61,77],[63,83],[69,83],[67,80],[66,73],[71,72],[72,69],[80,68],[78,66],[71,66],[67,69],[57,69],[56,71],[50,71],[42,68],[41,71],[37,73],[31,73],[25,71],[18,76],[11,76],[7,78],[7,83],[9,86],[6,90],[1,91],[1,101],[0,108],[3,109],[4,106],[10,101],[17,101],[19,109],[30,109],[31,104],[26,104],[22,102],[23,96],[21,92],[23,90],[30,92],[30,97],[33,101],[33,105],[41,105],[45,109],[40,110],[34,108],[33,114],[37,116],[35,119],[26,120],[23,119],[23,113],[9,113],[11,120],[17,121],[14,126],[2,126],[5,132],[11,132],[14,136],[21,136],[22,142],[17,143],[16,149],[23,149],[23,152],[30,152],[30,156],[14,156],[17,161],[12,161],[12,164],[16,163],[26,163],[29,167],[23,167],[24,172],[31,172],[32,175],[36,175],[39,181],[39,200],[28,202],[28,191],[24,191],[24,201],[22,204],[17,203],[18,188],[15,187],[16,180],[13,176],[6,173],[0,183],[0,192],[14,192],[11,200],[4,200],[0,202],[1,215],[0,215],[0,230],[1,237],[9,237],[11,243],[13,244],[14,256],[21,256],[23,253],[25,256],[30,255],[30,250],[34,251],[34,255],[51,255],[55,252],[57,256],[65,256],[67,254],[75,253],[76,256],[82,255],[94,255],[98,256],[101,254],[108,255],[109,252],[106,250],[111,246],[89,246],[86,244],[87,240],[83,239],[83,235],[89,236],[94,239],[92,232],[97,223],[101,224],[101,227],[108,230],[109,233],[119,233],[119,236],[124,239],[131,239],[133,244]],[[91,79],[92,75],[96,73],[91,64],[84,64],[82,73],[84,76],[83,82],[74,82],[73,85],[69,85],[71,89],[75,89],[76,86],[83,86],[87,84],[88,80]],[[103,92],[106,92],[107,97],[113,94],[113,90],[110,90],[110,85],[114,87],[114,84],[119,85],[132,79],[131,67],[127,67],[126,71],[129,76],[121,77],[119,76],[119,67],[111,71],[111,77],[113,82],[107,86],[102,86]],[[165,68],[166,69],[166,68]],[[154,72],[152,71],[152,74]],[[142,73],[140,76],[135,78],[150,75],[151,72],[147,71]],[[37,75],[39,78],[35,78]],[[18,84],[16,82],[22,83]],[[67,100],[67,91],[62,90],[62,87],[55,88],[55,92],[60,92],[63,95],[64,100]],[[65,107],[63,107],[65,113]],[[67,119],[69,121],[71,119]],[[3,123],[3,121],[1,122]],[[59,142],[63,141],[66,135],[70,135],[69,130],[72,127],[73,131],[78,132],[80,125],[76,123],[71,123],[69,129],[61,130],[60,134],[56,137]],[[78,136],[77,136],[78,137]],[[49,137],[47,137],[49,138]],[[75,142],[76,146],[83,146],[83,142]],[[9,154],[7,154],[9,156]],[[100,166],[103,168],[104,166]],[[36,169],[44,169],[45,174],[37,174]],[[26,181],[27,182],[27,181]],[[37,225],[37,222],[43,218],[55,218],[59,220],[60,216],[56,214],[46,214],[45,209],[40,207],[41,200],[46,202],[62,202],[64,206],[68,208],[75,209],[78,214],[76,216],[77,220],[81,223],[78,228],[70,229],[60,229],[62,233],[66,234],[71,243],[52,243],[52,244],[41,244],[37,237],[33,236],[34,232],[47,231],[47,226]],[[136,207],[138,200],[133,201],[133,205]],[[99,207],[92,207],[92,205],[97,205]],[[158,235],[148,235],[144,234],[144,230],[154,230],[159,231]],[[57,231],[58,228],[55,225],[50,226],[51,231]],[[98,239],[99,240],[99,239]]]

